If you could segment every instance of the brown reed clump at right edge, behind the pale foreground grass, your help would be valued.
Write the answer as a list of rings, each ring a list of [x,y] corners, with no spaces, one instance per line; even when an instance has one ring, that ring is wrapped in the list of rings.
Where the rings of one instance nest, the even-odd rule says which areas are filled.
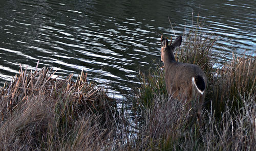
[[[256,95],[256,59],[252,57],[235,57],[221,66],[215,73],[210,97],[215,108],[223,111],[226,100],[233,100],[233,107],[243,106],[244,98]]]

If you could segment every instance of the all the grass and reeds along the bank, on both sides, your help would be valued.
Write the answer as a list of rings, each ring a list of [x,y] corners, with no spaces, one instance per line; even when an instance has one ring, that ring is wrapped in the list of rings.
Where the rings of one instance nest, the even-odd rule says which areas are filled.
[[[255,58],[233,56],[216,68],[218,39],[201,33],[184,34],[175,57],[207,75],[202,124],[169,100],[160,65],[140,72],[132,110],[83,71],[73,81],[73,74],[59,79],[46,67],[20,67],[0,88],[0,150],[256,150]]]

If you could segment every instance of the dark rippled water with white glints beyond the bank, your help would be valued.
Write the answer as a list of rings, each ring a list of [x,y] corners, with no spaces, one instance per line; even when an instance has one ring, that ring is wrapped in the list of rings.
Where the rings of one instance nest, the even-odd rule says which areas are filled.
[[[198,12],[204,30],[218,36],[220,62],[232,52],[254,56],[255,8],[247,0],[0,0],[0,83],[18,73],[19,63],[35,69],[39,60],[39,68],[60,68],[64,77],[83,69],[122,97],[139,86],[138,69],[160,63],[161,34],[182,35]]]

